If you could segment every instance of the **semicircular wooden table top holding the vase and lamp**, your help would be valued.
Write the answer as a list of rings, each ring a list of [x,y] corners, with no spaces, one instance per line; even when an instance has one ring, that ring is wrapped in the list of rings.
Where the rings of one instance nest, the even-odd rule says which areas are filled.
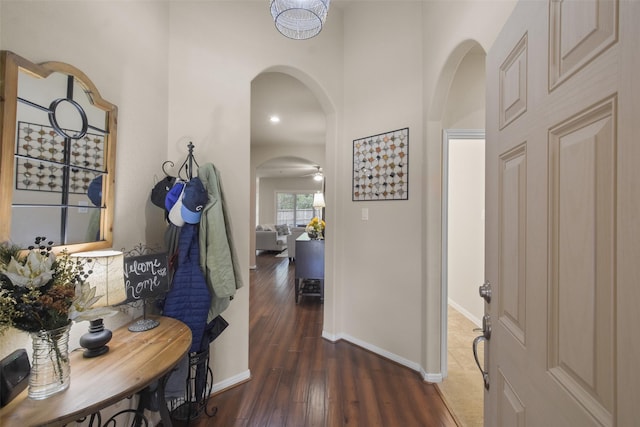
[[[91,359],[71,352],[69,388],[44,400],[24,390],[0,409],[0,426],[58,426],[88,416],[132,396],[170,372],[191,347],[191,330],[169,317],[144,332],[123,326],[113,332],[109,352]]]

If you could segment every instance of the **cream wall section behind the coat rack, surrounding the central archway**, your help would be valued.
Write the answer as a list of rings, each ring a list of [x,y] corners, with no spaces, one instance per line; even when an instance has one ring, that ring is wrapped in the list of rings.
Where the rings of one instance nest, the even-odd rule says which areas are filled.
[[[332,14],[321,36],[307,42],[282,37],[264,2],[172,2],[170,21],[169,153],[179,157],[184,141],[191,139],[199,162],[211,161],[221,171],[244,272],[246,286],[223,313],[230,326],[212,347],[214,381],[233,381],[248,374],[248,270],[250,238],[255,236],[251,81],[278,67],[297,72],[294,77],[333,113],[337,107],[332,103],[341,99],[341,20]],[[333,122],[328,133],[336,127]]]

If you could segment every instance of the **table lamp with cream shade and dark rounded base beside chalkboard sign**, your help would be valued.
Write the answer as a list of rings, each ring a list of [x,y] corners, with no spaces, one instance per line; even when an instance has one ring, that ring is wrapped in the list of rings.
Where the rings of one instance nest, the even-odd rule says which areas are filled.
[[[90,251],[72,254],[81,258],[87,271],[91,271],[88,282],[95,287],[96,295],[102,295],[91,308],[120,304],[127,299],[124,286],[124,255],[120,251]],[[112,332],[104,327],[102,318],[91,320],[89,332],[80,337],[85,349],[84,357],[96,357],[109,351],[107,343]]]

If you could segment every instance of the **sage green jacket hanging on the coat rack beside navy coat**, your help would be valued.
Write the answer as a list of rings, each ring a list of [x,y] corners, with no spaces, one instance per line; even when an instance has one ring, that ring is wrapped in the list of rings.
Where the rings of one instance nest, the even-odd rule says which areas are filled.
[[[224,202],[220,174],[211,163],[198,168],[198,178],[209,194],[200,218],[200,267],[211,291],[207,323],[227,309],[242,287],[238,257],[231,237],[229,214]]]

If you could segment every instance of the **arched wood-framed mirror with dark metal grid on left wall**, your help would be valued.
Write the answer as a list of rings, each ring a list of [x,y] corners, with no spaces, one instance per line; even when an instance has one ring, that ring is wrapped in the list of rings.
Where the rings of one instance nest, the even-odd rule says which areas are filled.
[[[23,81],[25,81],[24,79],[35,79],[35,81],[40,82],[42,81],[40,79],[49,78],[51,80],[66,81],[65,90],[67,93],[57,95],[57,97],[54,96],[48,105],[46,102],[31,102],[19,96],[20,79],[23,79]],[[75,91],[74,88],[76,88]],[[79,91],[77,89],[81,89],[83,93],[78,94],[77,92]],[[55,215],[49,216],[56,218],[54,219],[55,225],[49,224],[49,227],[55,229],[58,234],[46,237],[48,240],[54,241],[56,249],[59,250],[64,247],[69,252],[75,252],[111,247],[113,243],[115,200],[117,107],[104,100],[93,82],[74,66],[62,62],[35,64],[10,51],[0,51],[0,95],[2,96],[0,99],[0,242],[11,241],[24,246],[23,239],[26,239],[27,244],[31,243],[33,238],[42,235],[38,227],[38,223],[41,222],[40,218],[46,217],[47,213],[51,212],[55,213]],[[81,98],[82,96],[85,96],[86,99]],[[79,102],[76,99],[79,99]],[[46,120],[47,123],[37,123],[34,126],[31,126],[31,123],[27,123],[25,127],[27,129],[27,142],[19,139],[19,132],[23,130],[20,129],[20,126],[25,126],[23,124],[25,122],[18,124],[21,120],[18,117],[18,112],[21,108],[24,108],[24,104],[27,104],[29,108],[33,107],[36,110],[41,110],[38,114],[48,119]],[[82,104],[92,110],[89,112],[89,119],[85,111],[86,107],[83,107]],[[97,126],[91,122],[91,113],[95,110],[94,107],[98,110],[95,111],[96,114],[93,114],[93,116],[98,117],[100,120],[104,119],[104,123],[99,123]],[[63,113],[60,113],[60,111],[63,111]],[[102,112],[104,112],[104,115],[102,115]],[[67,123],[60,123],[63,115],[76,116],[72,119],[72,122],[74,125],[79,123],[79,126],[64,126]],[[45,120],[39,121],[44,122]],[[34,150],[36,144],[31,145],[31,141],[34,139],[31,138],[30,132],[34,132],[33,136],[35,137],[49,133],[53,136],[52,138],[56,139],[56,142],[55,144],[47,145],[49,148],[44,148],[40,143],[41,145],[37,148],[40,150],[41,156],[38,157],[37,150]],[[95,140],[93,156],[95,158],[99,156],[99,163],[87,161],[90,157],[86,154],[86,150],[84,161],[78,161],[78,157],[70,158],[73,147],[81,144],[81,141],[87,140],[89,138],[88,135],[92,135],[91,138]],[[100,145],[99,149],[98,144]],[[21,147],[27,147],[32,151],[21,152]],[[49,151],[49,153],[46,151]],[[56,153],[57,157],[54,158],[51,153]],[[46,156],[42,157],[45,154]],[[77,154],[75,153],[74,155],[77,156]],[[42,160],[43,158],[44,160]],[[44,177],[44,179],[38,181],[37,185],[43,187],[33,185],[33,181],[30,178],[30,168],[34,168],[34,165],[36,169],[40,168],[42,170],[42,175],[39,173],[38,177],[42,178],[44,174],[51,173],[47,172],[48,169],[55,171],[55,177],[54,175],[48,175],[51,178]],[[70,178],[71,173],[81,175],[73,175]],[[81,179],[83,181],[82,186],[74,184],[75,180],[80,179],[77,176],[83,177]],[[100,180],[95,179],[98,177],[101,177]],[[87,191],[90,178],[93,178],[91,183],[95,184],[93,186],[94,195],[99,195],[97,201],[96,197],[92,198]],[[47,182],[47,179],[50,179],[50,181]],[[94,181],[97,183],[94,183]],[[18,188],[23,183],[33,186],[29,187],[27,185],[26,190],[25,188]],[[45,197],[45,192],[42,192],[42,198],[38,199],[39,196],[36,190],[50,190],[46,188],[47,185],[52,188],[55,187],[55,190],[50,191],[50,193],[56,194],[54,196],[49,194]],[[76,188],[81,190],[72,190]],[[98,190],[100,190],[99,193],[96,192]],[[20,195],[19,191],[29,193],[29,197],[32,197],[34,201],[29,203],[16,202],[14,196]],[[76,195],[70,197],[70,194],[74,192]],[[51,203],[52,197],[60,197],[60,201]],[[81,197],[84,200],[78,201]],[[42,202],[47,198],[49,200]],[[93,204],[89,203],[89,199]],[[32,210],[30,211],[29,209]],[[77,215],[77,212],[88,212],[93,215],[94,220],[92,222],[96,227],[99,225],[99,228],[95,228],[95,238],[67,238],[67,230],[73,226],[70,223],[70,218],[77,218],[77,216],[73,216]],[[16,216],[20,216],[19,219],[23,223],[25,218],[34,218],[33,235],[16,236],[14,230],[14,235],[12,236],[12,218]],[[17,220],[16,224],[18,224]],[[28,228],[31,232],[31,223],[28,223]],[[86,233],[86,235],[94,236],[93,231],[94,229],[92,228],[91,233]]]

